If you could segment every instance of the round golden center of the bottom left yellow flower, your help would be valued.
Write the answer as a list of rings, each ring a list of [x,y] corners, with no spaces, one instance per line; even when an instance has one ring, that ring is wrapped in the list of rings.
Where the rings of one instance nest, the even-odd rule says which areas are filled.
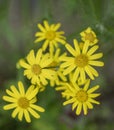
[[[26,97],[21,97],[18,100],[18,105],[23,108],[26,109],[29,107],[29,100]]]

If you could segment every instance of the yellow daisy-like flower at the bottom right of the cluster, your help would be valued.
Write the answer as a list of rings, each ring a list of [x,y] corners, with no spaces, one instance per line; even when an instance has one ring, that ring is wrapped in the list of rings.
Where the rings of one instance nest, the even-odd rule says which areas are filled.
[[[76,115],[79,115],[83,109],[84,115],[87,115],[88,109],[93,109],[92,104],[100,104],[95,98],[99,93],[94,93],[99,88],[99,85],[88,89],[90,80],[86,82],[84,87],[80,88],[76,83],[68,85],[69,89],[63,92],[64,96],[70,96],[70,99],[65,101],[63,105],[72,104],[72,110],[76,109]]]

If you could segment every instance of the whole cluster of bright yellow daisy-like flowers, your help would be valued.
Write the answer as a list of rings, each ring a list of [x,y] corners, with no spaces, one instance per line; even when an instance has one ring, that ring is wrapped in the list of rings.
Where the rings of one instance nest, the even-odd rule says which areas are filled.
[[[34,103],[37,94],[47,85],[61,91],[65,98],[63,105],[72,104],[77,115],[82,109],[86,115],[88,109],[93,109],[93,104],[100,104],[95,100],[100,93],[94,93],[99,85],[90,87],[90,81],[99,76],[96,68],[104,65],[100,61],[103,53],[96,52],[99,45],[95,32],[88,27],[80,33],[82,41],[74,39],[72,46],[64,31],[59,31],[60,26],[60,23],[49,25],[48,21],[38,24],[35,44],[42,44],[42,47],[36,52],[30,50],[26,58],[19,60],[18,65],[23,68],[23,75],[31,86],[25,92],[23,83],[19,81],[18,89],[12,85],[11,90],[6,90],[8,96],[3,96],[3,99],[10,104],[5,105],[4,110],[14,109],[13,118],[17,115],[21,121],[24,116],[27,122],[31,122],[29,114],[39,118],[36,111],[44,112],[44,108]]]

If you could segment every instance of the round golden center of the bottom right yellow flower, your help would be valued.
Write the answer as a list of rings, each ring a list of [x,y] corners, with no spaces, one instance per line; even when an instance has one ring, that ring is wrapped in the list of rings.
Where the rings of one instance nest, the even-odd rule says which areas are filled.
[[[88,99],[88,95],[84,90],[80,90],[77,92],[76,98],[79,102],[85,102]]]

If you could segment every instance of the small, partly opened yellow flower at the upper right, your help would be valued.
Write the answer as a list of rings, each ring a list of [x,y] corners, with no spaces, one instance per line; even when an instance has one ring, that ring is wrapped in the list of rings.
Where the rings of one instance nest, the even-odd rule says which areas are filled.
[[[85,43],[88,43],[90,46],[98,43],[96,34],[90,27],[88,27],[86,30],[82,31],[80,33],[80,35],[81,35],[82,41],[84,41]]]

